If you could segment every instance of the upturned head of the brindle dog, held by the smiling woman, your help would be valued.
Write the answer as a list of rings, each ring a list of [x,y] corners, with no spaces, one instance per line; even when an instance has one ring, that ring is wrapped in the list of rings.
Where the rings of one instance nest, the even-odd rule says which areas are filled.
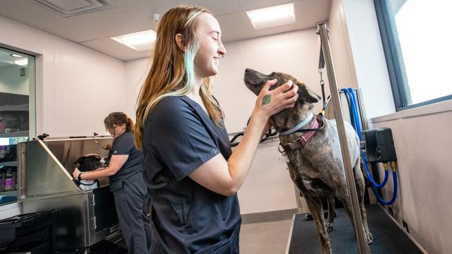
[[[273,79],[277,79],[277,83],[275,86],[272,86],[270,90],[278,88],[289,79],[293,81],[294,85],[298,86],[298,100],[295,102],[295,106],[293,108],[282,110],[270,118],[271,124],[273,124],[278,132],[281,132],[282,130],[295,126],[298,121],[303,120],[304,117],[313,111],[313,104],[319,102],[322,98],[309,89],[305,84],[295,79],[295,77],[292,77],[286,73],[271,72],[271,74],[265,75],[249,68],[245,70],[245,85],[255,95],[259,95],[259,92],[264,87],[266,81]]]

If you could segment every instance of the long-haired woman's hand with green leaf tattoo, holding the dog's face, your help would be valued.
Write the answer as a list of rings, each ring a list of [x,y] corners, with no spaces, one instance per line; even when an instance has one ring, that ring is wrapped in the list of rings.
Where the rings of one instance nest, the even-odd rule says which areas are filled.
[[[259,115],[263,115],[266,119],[279,113],[279,111],[293,108],[298,99],[298,86],[293,86],[291,80],[278,88],[270,90],[275,84],[277,84],[277,79],[266,81],[264,87],[257,96],[255,112],[259,113]]]

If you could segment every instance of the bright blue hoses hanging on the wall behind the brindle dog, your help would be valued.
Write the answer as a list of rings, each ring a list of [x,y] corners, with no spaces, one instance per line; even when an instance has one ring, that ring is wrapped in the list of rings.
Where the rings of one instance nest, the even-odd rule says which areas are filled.
[[[342,88],[342,91],[344,91],[346,98],[348,100],[348,104],[350,105],[351,124],[352,124],[353,128],[355,128],[355,131],[361,141],[360,116],[358,115],[357,102],[355,99],[355,95],[353,93],[353,89],[352,88],[348,88],[348,89]],[[393,197],[391,198],[391,200],[389,200],[389,202],[386,202],[378,194],[377,188],[382,188],[388,182],[388,179],[389,179],[388,170],[384,170],[383,182],[381,184],[377,184],[377,182],[375,182],[375,180],[371,176],[371,173],[369,172],[369,167],[367,166],[366,157],[364,156],[364,153],[361,153],[361,159],[364,164],[364,168],[366,168],[366,175],[371,180],[372,190],[373,190],[373,193],[375,193],[375,196],[377,197],[378,202],[380,202],[381,204],[385,204],[385,205],[393,204],[393,202],[395,201],[395,197],[397,197],[397,173],[395,173],[395,171],[393,171],[393,182],[394,182]]]

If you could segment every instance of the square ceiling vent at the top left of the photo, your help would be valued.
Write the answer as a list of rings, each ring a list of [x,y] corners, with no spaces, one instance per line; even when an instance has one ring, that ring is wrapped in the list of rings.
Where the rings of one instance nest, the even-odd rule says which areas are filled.
[[[104,0],[29,0],[39,6],[56,12],[63,17],[72,17],[99,10],[113,8]]]

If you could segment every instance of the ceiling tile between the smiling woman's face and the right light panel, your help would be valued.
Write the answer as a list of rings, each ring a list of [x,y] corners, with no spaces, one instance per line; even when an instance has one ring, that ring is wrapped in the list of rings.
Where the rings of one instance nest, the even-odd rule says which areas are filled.
[[[255,30],[245,12],[226,14],[216,18],[222,28],[224,42],[255,37]]]

